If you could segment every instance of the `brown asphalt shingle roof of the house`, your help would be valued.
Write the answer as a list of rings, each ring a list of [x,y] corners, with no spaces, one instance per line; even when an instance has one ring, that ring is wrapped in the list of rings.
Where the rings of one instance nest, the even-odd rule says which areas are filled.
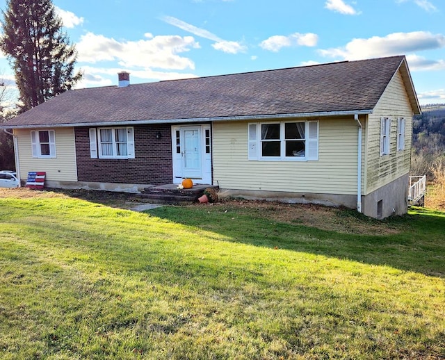
[[[404,61],[405,56],[392,56],[69,90],[2,127],[366,111]],[[407,77],[410,81],[409,72]]]

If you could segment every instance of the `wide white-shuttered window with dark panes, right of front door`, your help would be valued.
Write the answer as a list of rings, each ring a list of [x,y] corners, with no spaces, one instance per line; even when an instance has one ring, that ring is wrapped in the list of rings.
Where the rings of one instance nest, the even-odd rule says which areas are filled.
[[[318,160],[318,121],[248,124],[249,159]]]

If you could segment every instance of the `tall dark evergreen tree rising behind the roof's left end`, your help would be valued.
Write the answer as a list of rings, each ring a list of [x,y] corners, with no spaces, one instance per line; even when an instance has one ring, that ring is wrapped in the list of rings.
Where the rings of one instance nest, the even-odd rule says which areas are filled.
[[[15,71],[21,110],[26,111],[81,79],[76,50],[51,0],[8,0],[0,49]]]

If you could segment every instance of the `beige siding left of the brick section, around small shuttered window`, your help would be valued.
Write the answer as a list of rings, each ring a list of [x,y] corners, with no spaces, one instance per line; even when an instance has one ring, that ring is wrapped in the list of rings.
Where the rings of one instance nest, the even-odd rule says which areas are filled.
[[[33,158],[31,130],[39,129],[15,129],[14,131],[17,135],[21,179],[26,180],[28,172],[44,171],[49,181],[77,181],[74,129],[48,129],[55,131],[56,158]]]

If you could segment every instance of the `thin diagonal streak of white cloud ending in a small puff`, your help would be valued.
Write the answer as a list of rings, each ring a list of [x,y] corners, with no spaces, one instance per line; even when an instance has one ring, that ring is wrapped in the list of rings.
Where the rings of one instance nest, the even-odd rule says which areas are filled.
[[[199,36],[200,38],[214,41],[215,44],[212,44],[213,49],[220,50],[229,54],[238,54],[247,49],[240,42],[224,40],[220,38],[218,35],[215,35],[210,31],[205,30],[204,28],[198,28],[197,26],[183,22],[182,20],[177,19],[176,17],[164,16],[161,19],[167,24],[176,26],[177,28],[181,28],[182,30],[187,31],[188,33],[192,33],[193,35]]]

